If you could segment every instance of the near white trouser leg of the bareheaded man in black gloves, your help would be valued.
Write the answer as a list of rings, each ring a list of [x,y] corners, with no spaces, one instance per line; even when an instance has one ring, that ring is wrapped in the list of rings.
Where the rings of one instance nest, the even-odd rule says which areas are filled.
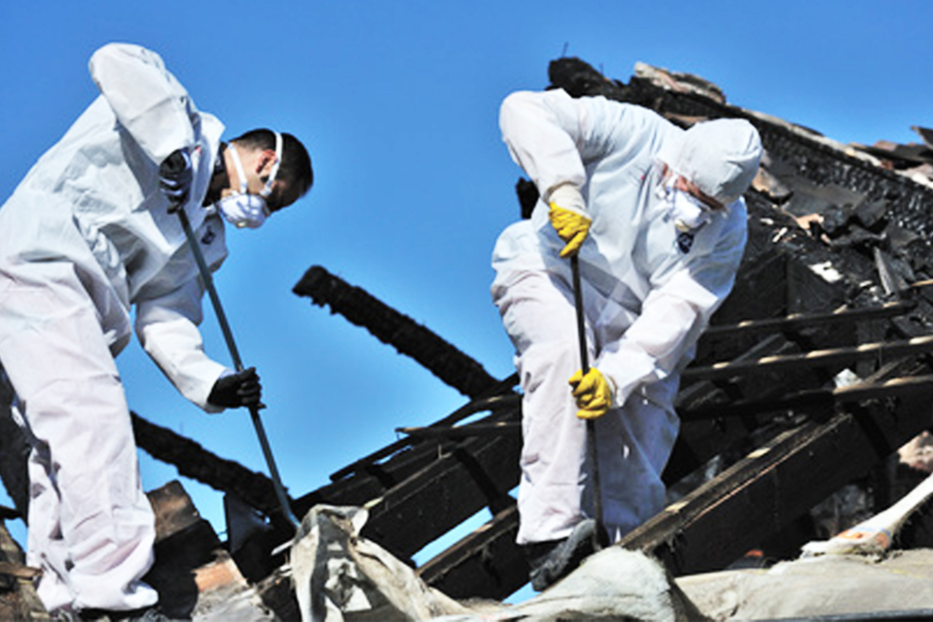
[[[15,272],[15,274],[14,274]],[[66,262],[0,267],[0,361],[35,436],[29,557],[50,609],[135,609],[155,526],[129,408],[91,298]]]

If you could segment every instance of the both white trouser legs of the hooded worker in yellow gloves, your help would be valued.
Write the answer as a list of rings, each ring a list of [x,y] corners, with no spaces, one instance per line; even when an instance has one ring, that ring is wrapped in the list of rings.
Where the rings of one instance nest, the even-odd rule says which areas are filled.
[[[495,304],[516,349],[524,392],[521,545],[564,538],[581,518],[592,517],[592,466],[586,423],[576,416],[567,383],[580,367],[573,294],[547,272],[512,276],[507,287],[496,288]],[[588,287],[584,298],[592,362],[593,342],[619,339],[624,326],[596,326],[594,333],[593,318],[602,316],[606,300]],[[671,406],[676,387],[675,377],[657,382],[595,422],[603,519],[614,540],[663,507],[661,472],[678,429]]]

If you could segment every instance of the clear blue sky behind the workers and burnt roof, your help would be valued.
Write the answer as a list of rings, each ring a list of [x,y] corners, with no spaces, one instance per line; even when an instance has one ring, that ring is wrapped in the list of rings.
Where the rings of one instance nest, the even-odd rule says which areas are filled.
[[[497,125],[502,98],[548,83],[565,53],[627,81],[648,62],[709,79],[731,104],[842,142],[916,142],[933,126],[933,4],[788,2],[5,2],[0,6],[3,200],[96,95],[91,52],[158,51],[202,110],[289,131],[312,154],[311,193],[258,231],[231,231],[216,285],[285,486],[328,474],[462,405],[361,328],[291,293],[312,265],[360,285],[494,376],[511,348],[489,297],[498,232],[521,174]],[[204,300],[208,352],[229,362]],[[267,472],[243,411],[207,415],[133,341],[118,358],[131,408]],[[146,490],[177,477],[141,452]],[[224,529],[219,494],[183,480]],[[7,503],[0,496],[0,503]],[[10,525],[17,534],[21,524]],[[21,537],[21,535],[20,535]]]

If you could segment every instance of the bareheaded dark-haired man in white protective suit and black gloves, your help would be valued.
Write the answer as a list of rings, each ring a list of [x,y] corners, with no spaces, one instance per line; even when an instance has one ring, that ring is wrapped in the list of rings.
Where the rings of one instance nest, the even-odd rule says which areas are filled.
[[[224,222],[256,228],[312,185],[289,134],[229,144],[159,55],[110,44],[91,57],[101,95],[0,208],[0,363],[33,443],[28,563],[52,613],[151,608],[151,506],[114,356],[135,332],[175,387],[207,412],[261,408],[253,368],[202,349],[203,283],[179,223],[207,263]],[[114,615],[112,619],[116,619]]]

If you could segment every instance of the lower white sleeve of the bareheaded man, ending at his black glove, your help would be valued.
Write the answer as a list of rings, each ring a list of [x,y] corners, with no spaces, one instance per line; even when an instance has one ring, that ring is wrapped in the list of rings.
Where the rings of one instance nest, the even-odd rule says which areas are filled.
[[[136,304],[136,335],[162,373],[189,401],[207,412],[220,412],[207,403],[214,383],[228,368],[204,352],[198,325],[202,321],[203,288],[198,279],[174,291]]]

